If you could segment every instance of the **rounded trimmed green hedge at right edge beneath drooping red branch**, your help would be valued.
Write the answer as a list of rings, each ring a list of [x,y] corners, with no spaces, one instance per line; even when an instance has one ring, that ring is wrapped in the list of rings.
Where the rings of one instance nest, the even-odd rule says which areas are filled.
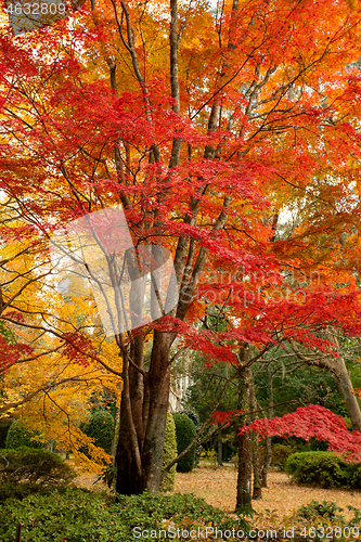
[[[298,452],[289,455],[285,470],[296,483],[321,488],[361,488],[361,464],[346,463],[334,452]]]

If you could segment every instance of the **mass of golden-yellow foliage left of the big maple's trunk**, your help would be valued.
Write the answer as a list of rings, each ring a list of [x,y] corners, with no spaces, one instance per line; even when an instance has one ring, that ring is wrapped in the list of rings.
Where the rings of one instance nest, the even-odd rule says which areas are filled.
[[[105,340],[96,326],[98,309],[88,282],[81,274],[64,274],[63,287],[56,291],[48,273],[52,268],[41,237],[22,236],[16,228],[22,222],[12,216],[2,199],[3,223],[10,231],[2,246],[0,268],[3,300],[12,300],[2,315],[14,308],[24,312],[29,327],[9,324],[16,340],[31,345],[31,354],[9,367],[2,375],[0,415],[21,417],[23,424],[41,434],[43,442],[54,442],[57,450],[72,451],[82,468],[100,473],[109,456],[82,434],[92,396],[104,390],[117,404],[120,402],[121,379],[104,370],[95,359],[121,372],[121,359],[114,340]],[[8,219],[8,220],[7,220]],[[15,232],[16,233],[16,232]],[[57,276],[60,279],[60,276]],[[81,332],[87,351],[87,364],[64,356],[66,335]],[[26,357],[25,357],[26,356]],[[90,459],[81,450],[88,449]]]

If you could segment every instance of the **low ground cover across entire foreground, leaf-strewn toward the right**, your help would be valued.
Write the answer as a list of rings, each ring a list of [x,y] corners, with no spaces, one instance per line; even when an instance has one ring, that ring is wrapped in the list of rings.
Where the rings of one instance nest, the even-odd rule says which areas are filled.
[[[225,468],[231,472],[231,467]],[[217,489],[219,495],[222,495],[222,468],[217,472],[211,468],[207,470],[208,478],[218,477]],[[177,476],[192,476],[194,483],[194,480],[201,481],[199,472],[201,469],[197,474],[193,472]],[[275,511],[266,509],[263,513],[253,512],[236,518],[234,514],[231,516],[190,493],[159,495],[145,492],[142,495],[119,495],[115,503],[114,496],[108,493],[83,488],[47,488],[38,485],[36,492],[28,493],[27,485],[17,486],[13,487],[14,493],[9,493],[7,501],[1,503],[1,542],[14,542],[17,522],[23,524],[24,542],[133,542],[137,539],[155,540],[155,533],[159,530],[173,533],[178,529],[179,537],[176,540],[185,542],[190,540],[185,531],[190,533],[195,529],[197,532],[199,528],[204,533],[206,526],[209,528],[209,535],[206,538],[208,542],[221,540],[210,531],[211,527],[223,532],[232,531],[233,528],[242,529],[244,537],[225,535],[232,542],[260,542],[265,534],[255,538],[255,532],[267,531],[272,532],[272,540],[278,542],[361,540],[361,511],[354,506],[339,506],[331,500],[312,499],[296,507],[293,514],[283,516],[274,514]],[[292,494],[292,487],[288,496]],[[18,488],[23,490],[18,491]],[[346,518],[347,508],[351,515]],[[201,535],[195,540],[205,538]]]

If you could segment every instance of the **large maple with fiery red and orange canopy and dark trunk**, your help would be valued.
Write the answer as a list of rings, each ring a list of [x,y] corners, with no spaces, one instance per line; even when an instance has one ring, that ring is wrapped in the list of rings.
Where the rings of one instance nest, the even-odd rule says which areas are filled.
[[[121,204],[134,246],[151,244],[159,262],[162,247],[172,254],[177,307],[137,333],[115,332],[119,493],[158,490],[171,349],[242,365],[245,343],[330,351],[321,330],[360,332],[350,280],[360,24],[358,9],[325,0],[234,0],[216,11],[102,0],[25,36],[1,31],[1,206],[18,219],[4,221],[7,241],[39,247],[44,269],[56,227]],[[279,238],[282,207],[304,201],[301,222]],[[112,255],[106,264],[115,278]],[[57,337],[64,356],[94,359],[86,330],[62,332],[52,307],[24,310],[22,294],[41,283],[36,269],[25,284],[17,269],[12,295],[3,288],[1,318]],[[209,304],[227,312],[225,331],[197,326]],[[118,364],[105,369],[118,375]]]

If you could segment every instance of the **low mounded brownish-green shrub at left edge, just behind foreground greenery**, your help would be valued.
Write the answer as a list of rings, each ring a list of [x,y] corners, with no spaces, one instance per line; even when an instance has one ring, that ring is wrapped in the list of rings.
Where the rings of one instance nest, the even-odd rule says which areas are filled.
[[[68,483],[76,476],[74,469],[56,453],[20,448],[0,450],[0,482]]]

